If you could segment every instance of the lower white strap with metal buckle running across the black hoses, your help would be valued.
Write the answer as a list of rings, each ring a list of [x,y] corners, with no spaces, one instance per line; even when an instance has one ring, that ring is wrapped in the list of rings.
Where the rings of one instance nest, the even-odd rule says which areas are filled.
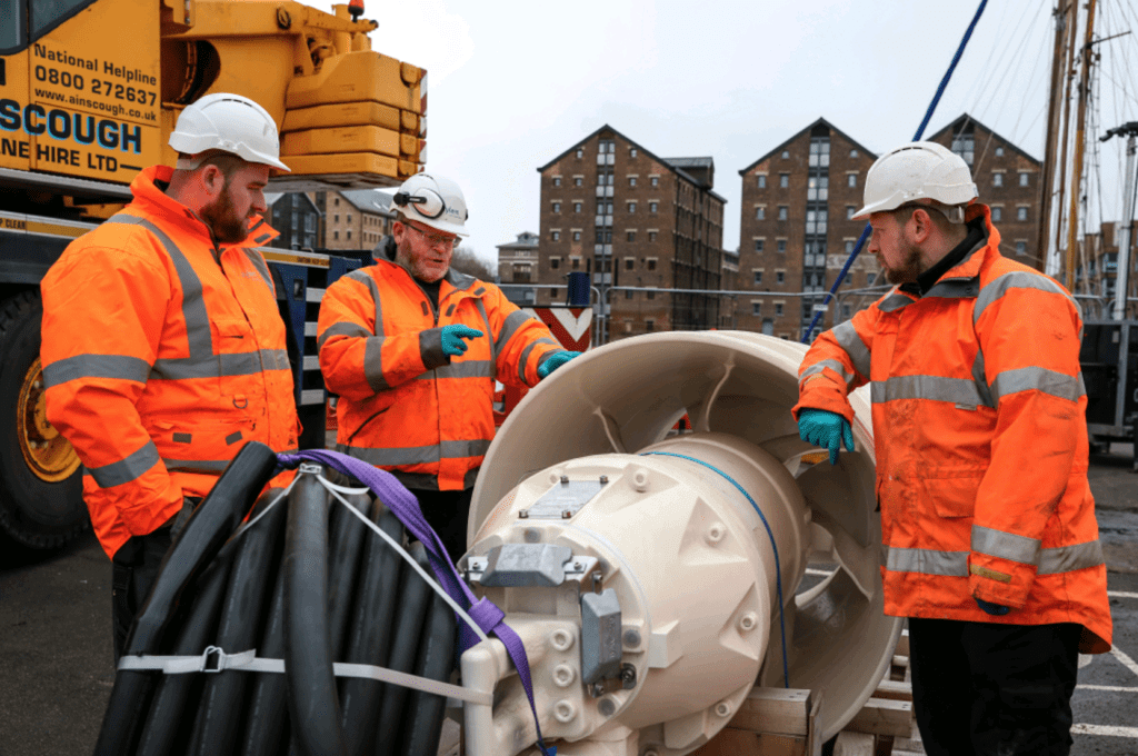
[[[256,649],[249,649],[239,654],[225,654],[225,651],[216,646],[211,646],[206,648],[201,656],[124,656],[118,659],[118,668],[132,672],[158,669],[167,675],[193,672],[205,672],[208,674],[226,669],[283,673],[284,659],[258,658]],[[419,677],[405,672],[396,672],[395,669],[377,667],[370,664],[337,662],[332,665],[332,672],[337,677],[364,677],[483,706],[490,706],[494,702],[494,697],[485,691],[468,690],[460,685],[428,680],[427,677]]]

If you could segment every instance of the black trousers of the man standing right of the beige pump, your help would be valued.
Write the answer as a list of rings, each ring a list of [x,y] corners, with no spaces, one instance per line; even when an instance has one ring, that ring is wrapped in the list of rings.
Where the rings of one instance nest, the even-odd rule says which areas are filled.
[[[913,707],[929,756],[1067,756],[1075,624],[909,618]]]

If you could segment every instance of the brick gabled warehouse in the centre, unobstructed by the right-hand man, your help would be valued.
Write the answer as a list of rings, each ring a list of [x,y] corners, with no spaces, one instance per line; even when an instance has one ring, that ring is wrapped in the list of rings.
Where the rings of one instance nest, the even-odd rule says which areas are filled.
[[[566,284],[585,271],[593,286],[720,288],[723,212],[710,157],[661,158],[609,125],[550,163],[542,175],[535,282]],[[537,304],[566,290],[537,289]],[[719,297],[613,290],[601,342],[654,330],[700,330],[719,321]]]

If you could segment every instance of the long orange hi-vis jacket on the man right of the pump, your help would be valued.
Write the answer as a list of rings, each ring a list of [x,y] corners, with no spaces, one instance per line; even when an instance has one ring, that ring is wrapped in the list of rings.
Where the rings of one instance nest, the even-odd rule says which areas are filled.
[[[1106,566],[1087,482],[1082,320],[1054,279],[987,240],[920,298],[894,287],[822,334],[805,408],[852,422],[871,384],[885,613],[1009,625],[1078,623],[1111,648]],[[982,611],[975,598],[1012,608]]]

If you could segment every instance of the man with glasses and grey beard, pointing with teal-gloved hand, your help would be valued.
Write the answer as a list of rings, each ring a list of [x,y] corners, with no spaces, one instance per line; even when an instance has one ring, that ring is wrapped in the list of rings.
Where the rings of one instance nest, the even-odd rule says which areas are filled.
[[[320,368],[339,394],[337,449],[391,471],[456,559],[494,438],[495,379],[531,387],[578,353],[493,284],[451,269],[467,236],[455,182],[420,173],[393,204],[403,217],[376,264],[324,293]]]

